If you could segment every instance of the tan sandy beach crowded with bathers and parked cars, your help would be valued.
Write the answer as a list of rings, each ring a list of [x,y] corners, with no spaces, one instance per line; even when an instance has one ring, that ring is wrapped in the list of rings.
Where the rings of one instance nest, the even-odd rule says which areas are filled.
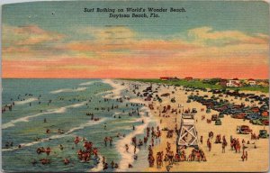
[[[108,81],[107,81],[108,82]],[[118,85],[119,81],[117,82]],[[184,87],[168,87],[163,85],[157,85],[157,84],[149,84],[149,83],[139,83],[134,81],[121,81],[121,83],[124,83],[124,86],[126,89],[128,89],[130,92],[134,91],[134,86],[139,86],[136,92],[142,93],[143,90],[149,86],[153,87],[153,90],[157,88],[157,93],[155,95],[161,95],[164,93],[170,93],[170,96],[162,97],[162,103],[159,103],[157,101],[145,101],[144,97],[138,97],[136,101],[140,103],[144,103],[146,105],[153,105],[152,110],[150,110],[150,113],[152,114],[152,118],[155,119],[157,122],[157,125],[160,129],[168,128],[170,130],[175,129],[175,125],[177,125],[177,128],[180,128],[181,123],[181,114],[160,114],[160,109],[163,106],[170,105],[171,108],[175,108],[177,110],[186,110],[186,109],[193,109],[196,108],[198,111],[197,114],[195,114],[195,129],[198,134],[198,145],[199,149],[203,150],[205,153],[205,157],[207,161],[180,161],[175,162],[171,167],[169,168],[169,171],[267,171],[268,169],[268,161],[269,161],[269,145],[268,145],[268,139],[259,139],[257,141],[250,139],[250,134],[239,134],[237,132],[237,126],[238,125],[248,125],[253,132],[258,134],[259,130],[266,129],[267,132],[268,126],[261,126],[261,125],[254,125],[249,123],[248,121],[243,121],[242,119],[234,119],[231,118],[229,115],[225,115],[224,118],[221,119],[222,124],[221,125],[215,125],[214,122],[206,123],[207,119],[211,119],[212,114],[219,114],[218,112],[211,110],[211,114],[206,114],[205,105],[202,105],[198,102],[191,101],[191,103],[186,103],[187,96],[194,94],[195,92],[192,91],[185,91]],[[114,82],[114,87],[116,87]],[[121,86],[122,87],[122,86]],[[117,92],[119,90],[116,90]],[[173,94],[174,93],[174,94]],[[259,95],[260,93],[254,92],[254,94]],[[218,96],[215,94],[212,94],[211,92],[203,92],[200,91],[198,96]],[[175,103],[171,102],[171,98],[175,97]],[[239,98],[234,98],[232,96],[228,96],[227,99],[230,103],[240,105],[241,103],[245,103],[245,105],[257,105],[256,102],[249,103],[245,102],[244,100],[240,100]],[[201,111],[201,109],[204,109]],[[166,115],[169,115],[170,117],[166,117]],[[205,116],[205,119],[202,121],[202,115]],[[165,117],[164,117],[165,116]],[[213,132],[213,138],[211,139],[211,151],[207,148],[207,139],[208,139],[208,133]],[[235,150],[231,150],[230,146],[228,145],[225,148],[225,153],[222,153],[221,150],[221,144],[220,143],[214,143],[216,139],[216,135],[220,134],[221,136],[225,135],[226,140],[229,143],[229,138],[232,136],[233,138],[238,139],[241,142],[242,147],[242,141],[244,140],[245,143],[245,151],[248,153],[248,159],[245,161],[242,161],[242,148],[241,151],[236,153]],[[200,142],[199,138],[202,136],[203,140],[202,143]],[[153,155],[156,157],[156,154],[158,151],[164,151],[166,152],[166,143],[169,142],[172,146],[172,149],[175,153],[176,151],[176,141],[177,141],[177,135],[173,134],[172,138],[166,138],[166,131],[162,131],[161,133],[161,141],[160,143],[155,141],[155,146],[153,147]],[[247,141],[249,141],[249,144],[247,144]],[[256,149],[255,149],[256,147]],[[193,148],[187,148],[186,154],[190,154],[191,150]],[[150,171],[150,172],[156,172],[156,171],[167,171],[167,162],[164,163],[163,167],[157,168],[156,161],[153,167],[147,168],[144,171]]]

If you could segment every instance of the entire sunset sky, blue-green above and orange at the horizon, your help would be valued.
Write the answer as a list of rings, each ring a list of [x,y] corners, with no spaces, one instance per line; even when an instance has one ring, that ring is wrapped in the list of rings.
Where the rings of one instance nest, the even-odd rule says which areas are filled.
[[[121,19],[84,12],[108,7],[186,12]],[[268,78],[268,58],[269,6],[261,1],[68,1],[2,8],[7,78]]]

